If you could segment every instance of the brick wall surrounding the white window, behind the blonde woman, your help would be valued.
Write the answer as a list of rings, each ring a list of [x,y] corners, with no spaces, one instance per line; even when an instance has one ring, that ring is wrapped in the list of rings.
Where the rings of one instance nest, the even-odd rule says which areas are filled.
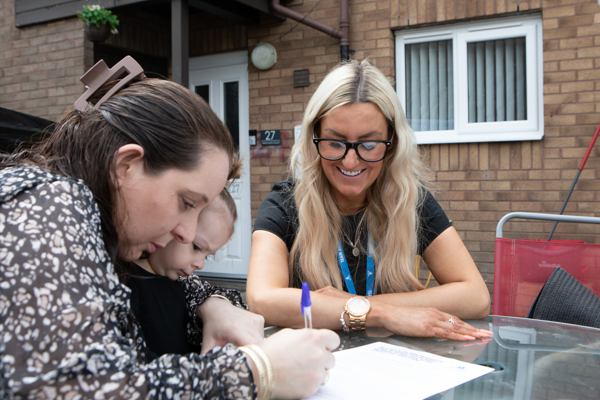
[[[294,0],[291,9],[339,26],[337,0]],[[312,10],[312,11],[311,11]],[[421,146],[439,192],[437,198],[454,221],[490,291],[498,220],[513,211],[557,213],[600,122],[600,6],[596,1],[407,0],[350,1],[350,49],[370,57],[394,79],[393,29],[497,17],[530,10],[542,12],[544,37],[545,137],[541,141]],[[286,138],[323,77],[339,60],[339,41],[288,19],[263,20],[248,28],[250,50],[271,42],[277,64],[268,71],[249,66],[250,129],[281,129]],[[310,70],[311,85],[294,88],[296,69]],[[289,143],[289,144],[287,144]],[[285,155],[293,139],[279,148],[252,149],[253,216],[271,183],[286,177]],[[600,146],[600,143],[598,144]],[[600,216],[596,181],[600,161],[593,150],[566,214]],[[546,238],[551,223],[511,222],[513,238]],[[559,224],[554,239],[600,243],[600,229]],[[425,271],[424,271],[425,272]],[[427,278],[426,273],[422,278]],[[432,283],[435,285],[435,282]]]

